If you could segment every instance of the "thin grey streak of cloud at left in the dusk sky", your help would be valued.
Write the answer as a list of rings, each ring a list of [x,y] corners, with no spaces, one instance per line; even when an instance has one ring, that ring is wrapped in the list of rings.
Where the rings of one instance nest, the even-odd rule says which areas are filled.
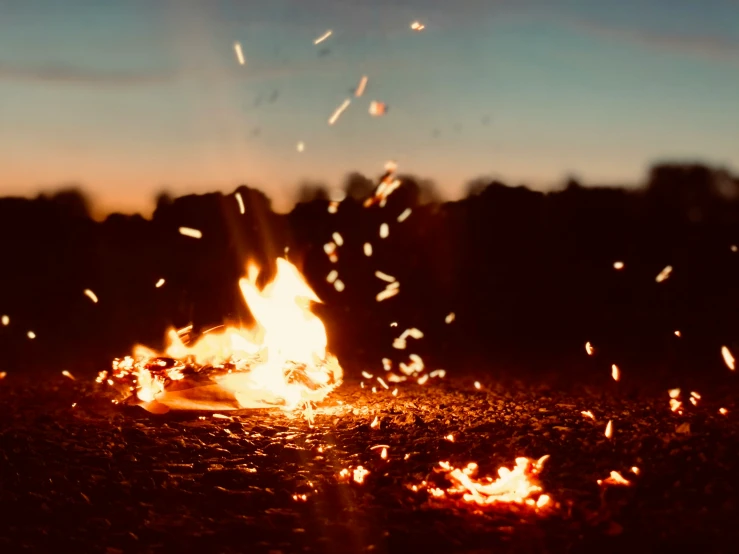
[[[67,64],[10,65],[0,63],[0,81],[82,86],[141,86],[170,83],[171,71],[102,71]]]

